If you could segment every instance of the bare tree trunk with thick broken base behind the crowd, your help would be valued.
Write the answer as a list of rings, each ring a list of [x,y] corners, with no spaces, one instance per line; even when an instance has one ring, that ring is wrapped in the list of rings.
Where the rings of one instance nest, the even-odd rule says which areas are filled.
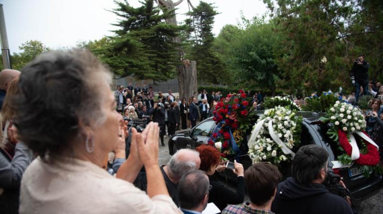
[[[160,3],[163,3],[168,10],[174,10],[175,5],[172,0],[162,0]],[[177,25],[177,19],[175,16],[165,20],[166,23]],[[172,38],[173,42],[181,44],[181,38],[179,36]],[[191,96],[197,95],[197,67],[195,61],[189,61],[187,59],[183,59],[184,52],[182,47],[180,47],[180,52],[178,53],[182,64],[176,66],[177,70],[177,79],[178,79],[178,87],[180,88],[180,99],[186,98],[188,100]]]

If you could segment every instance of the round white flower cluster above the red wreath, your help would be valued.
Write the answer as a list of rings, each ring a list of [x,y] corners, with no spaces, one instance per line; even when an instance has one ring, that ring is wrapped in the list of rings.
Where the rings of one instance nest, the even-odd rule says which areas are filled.
[[[346,110],[347,109],[347,110]],[[340,103],[336,101],[334,106],[327,112],[323,121],[328,121],[334,124],[336,129],[343,131],[359,131],[366,127],[366,121],[363,118],[359,108],[352,106],[349,103]]]

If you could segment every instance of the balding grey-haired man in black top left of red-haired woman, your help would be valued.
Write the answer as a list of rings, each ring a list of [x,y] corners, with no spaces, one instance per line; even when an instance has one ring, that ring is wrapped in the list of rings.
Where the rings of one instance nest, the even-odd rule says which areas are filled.
[[[181,149],[170,158],[166,165],[160,167],[169,195],[178,207],[180,206],[177,192],[178,181],[186,173],[198,170],[200,164],[200,154],[196,150]]]

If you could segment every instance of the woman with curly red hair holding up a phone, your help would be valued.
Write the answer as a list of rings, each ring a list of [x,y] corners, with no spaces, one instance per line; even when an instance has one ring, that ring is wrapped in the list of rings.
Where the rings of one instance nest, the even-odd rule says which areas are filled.
[[[206,172],[209,177],[210,185],[212,186],[209,191],[209,203],[213,202],[221,211],[228,206],[228,204],[241,204],[245,198],[245,183],[244,183],[244,169],[241,163],[234,161],[233,172],[237,175],[237,191],[226,188],[221,182],[218,181],[214,173],[223,170],[224,166],[219,164],[221,153],[213,146],[201,145],[196,148],[200,153],[201,165],[200,170]]]

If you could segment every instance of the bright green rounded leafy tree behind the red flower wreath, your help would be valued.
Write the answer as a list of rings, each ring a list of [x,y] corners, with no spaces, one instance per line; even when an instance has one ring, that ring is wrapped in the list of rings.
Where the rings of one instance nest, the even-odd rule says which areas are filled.
[[[228,46],[231,69],[236,71],[236,82],[252,87],[268,88],[274,94],[280,71],[274,62],[273,50],[281,39],[273,32],[274,23],[264,18],[246,20],[242,16],[243,30]]]

